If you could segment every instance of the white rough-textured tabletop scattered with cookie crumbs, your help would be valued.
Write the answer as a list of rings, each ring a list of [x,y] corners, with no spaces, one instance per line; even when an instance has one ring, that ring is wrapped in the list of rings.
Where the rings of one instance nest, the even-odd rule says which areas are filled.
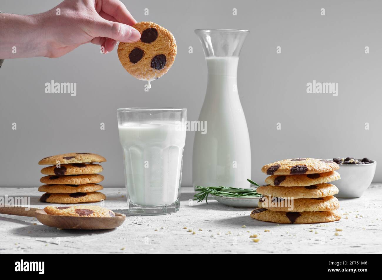
[[[126,213],[124,188],[103,192],[108,198],[105,207]],[[31,196],[31,207],[48,205],[38,201],[36,188],[1,188],[0,195]],[[231,208],[212,198],[208,204],[191,203],[192,196],[193,190],[183,187],[178,213],[127,216],[115,230],[58,230],[35,218],[0,215],[0,253],[382,252],[381,184],[372,184],[361,198],[340,199],[340,221],[312,226],[256,221],[249,217],[251,209]],[[335,228],[343,231],[335,236]],[[251,234],[259,234],[260,241],[252,242]]]

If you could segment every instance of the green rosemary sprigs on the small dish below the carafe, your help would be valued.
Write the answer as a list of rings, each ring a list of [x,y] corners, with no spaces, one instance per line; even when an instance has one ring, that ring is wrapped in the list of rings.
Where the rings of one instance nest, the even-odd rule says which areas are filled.
[[[248,179],[248,181],[251,184],[254,184],[255,186],[259,187],[259,185]],[[202,186],[195,186],[197,189],[195,191],[197,192],[194,195],[194,200],[197,200],[197,202],[201,202],[204,199],[207,198],[209,194],[213,194],[216,196],[220,197],[260,197],[261,194],[258,194],[256,190],[254,189],[241,189],[241,188],[233,188],[233,187],[224,187],[224,186],[219,186],[219,187],[202,187]]]

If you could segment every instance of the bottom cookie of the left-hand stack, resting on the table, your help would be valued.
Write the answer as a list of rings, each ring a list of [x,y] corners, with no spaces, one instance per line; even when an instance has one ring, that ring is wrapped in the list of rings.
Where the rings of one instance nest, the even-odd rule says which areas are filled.
[[[101,192],[74,192],[73,194],[50,194],[49,192],[40,197],[40,202],[50,203],[79,203],[97,202],[106,199]]]

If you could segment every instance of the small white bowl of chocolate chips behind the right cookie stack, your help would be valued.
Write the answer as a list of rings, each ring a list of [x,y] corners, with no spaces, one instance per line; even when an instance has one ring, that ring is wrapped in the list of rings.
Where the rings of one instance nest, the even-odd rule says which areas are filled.
[[[329,160],[333,160],[329,159]],[[376,173],[377,162],[371,160],[369,164],[343,164],[339,165],[341,179],[330,182],[338,187],[338,198],[356,198],[363,195],[364,191],[370,186]]]

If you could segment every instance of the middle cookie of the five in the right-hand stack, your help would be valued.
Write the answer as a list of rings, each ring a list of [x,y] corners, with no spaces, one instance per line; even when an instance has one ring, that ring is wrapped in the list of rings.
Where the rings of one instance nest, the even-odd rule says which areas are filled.
[[[256,189],[258,194],[272,197],[318,198],[338,194],[338,188],[332,184],[322,183],[305,187],[282,187],[264,185]]]

